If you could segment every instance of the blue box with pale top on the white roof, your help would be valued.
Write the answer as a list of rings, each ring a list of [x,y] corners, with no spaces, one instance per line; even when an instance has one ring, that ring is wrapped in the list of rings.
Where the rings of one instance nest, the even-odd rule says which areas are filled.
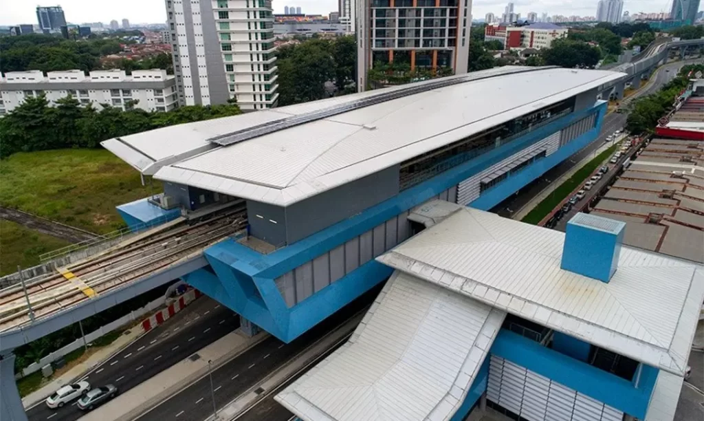
[[[567,222],[560,268],[608,283],[616,272],[625,222],[577,213]]]

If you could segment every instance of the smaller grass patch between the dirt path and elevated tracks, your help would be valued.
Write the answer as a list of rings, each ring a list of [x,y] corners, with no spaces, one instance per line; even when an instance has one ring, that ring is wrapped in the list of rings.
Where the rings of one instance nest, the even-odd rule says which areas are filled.
[[[68,244],[68,241],[0,219],[0,276],[16,272],[17,265],[22,268],[38,265],[40,254]]]

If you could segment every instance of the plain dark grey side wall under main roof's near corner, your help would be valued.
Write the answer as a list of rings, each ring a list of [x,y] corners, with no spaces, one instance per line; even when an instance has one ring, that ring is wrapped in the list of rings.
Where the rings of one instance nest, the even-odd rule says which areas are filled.
[[[398,194],[398,165],[287,207],[289,244]],[[335,203],[335,206],[330,206]]]

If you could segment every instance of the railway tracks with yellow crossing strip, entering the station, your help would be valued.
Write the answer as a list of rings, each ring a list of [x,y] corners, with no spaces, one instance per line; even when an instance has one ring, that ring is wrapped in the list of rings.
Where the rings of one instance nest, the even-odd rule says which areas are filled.
[[[246,228],[244,203],[200,220],[179,218],[133,239],[27,282],[34,319],[44,318],[99,294],[125,287]],[[0,332],[32,321],[21,285],[0,290]]]

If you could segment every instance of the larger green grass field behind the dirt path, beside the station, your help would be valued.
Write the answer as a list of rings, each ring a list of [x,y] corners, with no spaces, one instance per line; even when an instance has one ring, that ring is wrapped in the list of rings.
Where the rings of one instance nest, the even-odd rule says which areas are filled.
[[[115,206],[161,191],[104,149],[15,153],[0,161],[0,204],[92,232],[124,226]]]

